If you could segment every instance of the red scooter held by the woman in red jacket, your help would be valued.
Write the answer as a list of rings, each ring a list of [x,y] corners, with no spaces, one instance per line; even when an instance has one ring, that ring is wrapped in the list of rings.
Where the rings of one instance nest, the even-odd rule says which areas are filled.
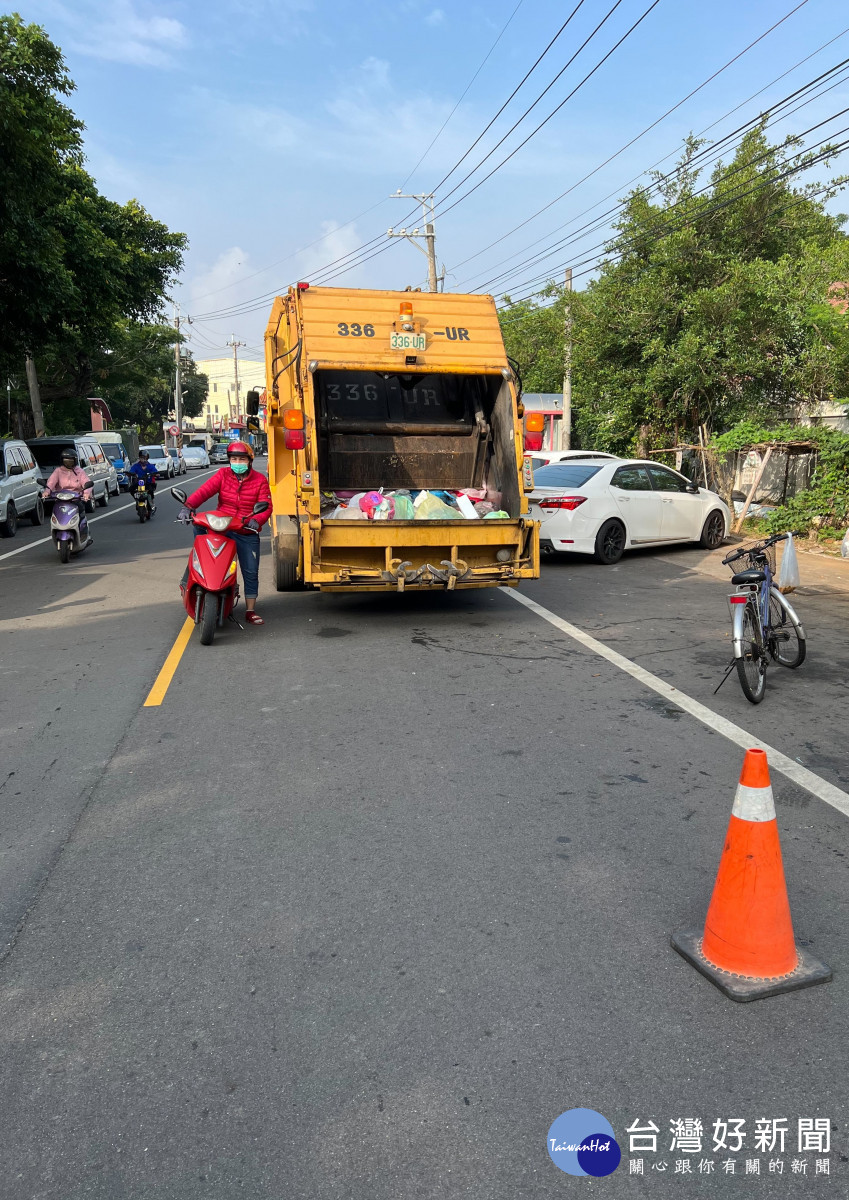
[[[180,504],[186,503],[186,493],[171,487],[171,496]],[[254,514],[265,512],[266,503],[254,504]],[[216,628],[233,617],[239,600],[236,571],[236,544],[228,533],[240,533],[245,522],[229,512],[194,512],[192,524],[203,529],[195,536],[188,556],[188,570],[180,583],[180,595],[186,612],[200,626],[200,644],[211,646]],[[233,618],[235,620],[235,618]]]

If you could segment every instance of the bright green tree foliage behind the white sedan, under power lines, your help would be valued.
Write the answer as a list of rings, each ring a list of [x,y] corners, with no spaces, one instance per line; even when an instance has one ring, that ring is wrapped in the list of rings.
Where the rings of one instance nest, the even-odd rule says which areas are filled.
[[[843,180],[791,184],[827,152],[770,145],[755,128],[704,184],[698,150],[691,140],[672,176],[626,198],[585,292],[555,289],[572,313],[583,445],[627,452],[697,440],[700,425],[779,419],[794,402],[849,391],[847,317],[829,304],[830,286],[849,280],[849,240],[824,208]],[[519,328],[552,330],[552,356],[562,312],[543,318],[528,304],[507,308],[505,329],[519,310]]]

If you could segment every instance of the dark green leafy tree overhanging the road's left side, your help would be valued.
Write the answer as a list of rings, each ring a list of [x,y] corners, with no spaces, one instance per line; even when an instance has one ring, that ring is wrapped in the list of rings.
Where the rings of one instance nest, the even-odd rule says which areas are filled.
[[[0,17],[0,370],[20,376],[36,360],[54,426],[91,395],[127,323],[142,331],[161,316],[186,246],[137,200],[97,191],[64,103],[72,91],[44,30]]]

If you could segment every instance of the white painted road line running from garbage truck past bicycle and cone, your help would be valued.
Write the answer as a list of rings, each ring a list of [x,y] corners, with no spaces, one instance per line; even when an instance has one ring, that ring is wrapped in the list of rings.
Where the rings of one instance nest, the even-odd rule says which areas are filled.
[[[679,708],[682,708],[685,713],[690,713],[694,716],[697,721],[702,721],[709,728],[715,730],[721,733],[723,738],[728,738],[729,742],[734,742],[735,745],[741,746],[743,750],[748,750],[755,746],[760,750],[765,750],[770,760],[770,767],[773,770],[781,772],[788,779],[793,780],[800,787],[803,787],[806,792],[811,792],[812,796],[818,797],[818,799],[824,800],[830,804],[832,809],[837,809],[844,816],[849,817],[849,796],[842,792],[839,787],[835,787],[833,784],[827,782],[825,779],[820,779],[814,772],[808,770],[807,767],[802,767],[801,763],[794,762],[781,750],[776,750],[775,746],[769,745],[766,742],[761,742],[760,738],[755,738],[753,733],[747,733],[746,730],[735,725],[733,721],[727,720],[724,716],[719,716],[712,709],[708,708],[705,704],[699,703],[698,700],[693,700],[692,696],[687,696],[686,692],[679,691],[678,688],[673,688],[670,683],[666,679],[660,679],[657,676],[652,674],[651,671],[646,671],[645,667],[638,666],[632,662],[631,659],[626,659],[622,654],[616,650],[612,650],[609,646],[603,642],[597,641],[590,634],[585,634],[583,629],[578,629],[577,625],[570,624],[570,622],[564,620],[562,617],[558,617],[556,613],[550,612],[548,608],[543,608],[541,604],[535,600],[529,600],[528,596],[522,595],[514,588],[511,588],[508,595],[513,600],[518,600],[523,604],[525,608],[530,608],[535,612],[537,617],[542,617],[547,620],[549,625],[554,625],[562,634],[568,637],[573,637],[576,642],[580,642],[582,646],[586,647],[594,654],[597,654],[602,659],[607,659],[613,666],[619,667],[620,671],[625,671],[637,679],[638,683],[644,684],[646,688],[651,688],[664,700],[672,701]]]

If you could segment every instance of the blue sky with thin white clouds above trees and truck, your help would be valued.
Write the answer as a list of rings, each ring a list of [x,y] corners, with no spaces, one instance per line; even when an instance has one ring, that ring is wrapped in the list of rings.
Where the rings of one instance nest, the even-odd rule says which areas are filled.
[[[227,353],[233,335],[246,343],[246,356],[259,356],[269,298],[299,278],[423,286],[424,257],[409,241],[386,238],[390,226],[416,223],[405,221],[415,202],[391,198],[399,188],[436,190],[436,252],[448,290],[532,290],[528,281],[546,270],[559,276],[568,263],[591,263],[604,228],[540,264],[519,264],[558,239],[574,239],[613,203],[600,202],[622,196],[673,155],[668,167],[687,133],[746,102],[708,134],[722,137],[849,58],[849,8],[807,0],[616,155],[799,0],[658,0],[613,49],[650,2],[19,0],[16,7],[62,48],[101,191],[119,202],[138,198],[188,235],[175,294],[193,317],[195,358],[206,358]],[[483,133],[576,5],[566,30]],[[837,86],[777,124],[773,137],[849,107],[849,72],[829,83],[835,79]],[[847,115],[835,119],[812,140],[847,125]],[[844,155],[831,170],[849,170],[848,161]],[[820,167],[817,178],[826,175]],[[831,206],[842,211],[849,200]],[[363,245],[363,254],[345,257]],[[331,275],[343,268],[350,269]]]

